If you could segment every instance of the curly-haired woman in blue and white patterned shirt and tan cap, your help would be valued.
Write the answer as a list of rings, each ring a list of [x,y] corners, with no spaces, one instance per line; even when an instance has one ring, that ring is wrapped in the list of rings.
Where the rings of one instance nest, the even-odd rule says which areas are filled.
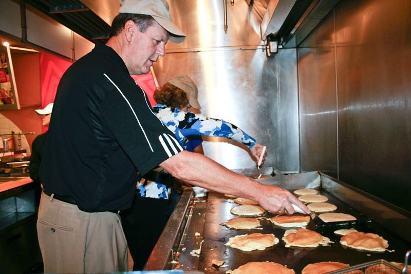
[[[246,145],[258,161],[263,145],[234,124],[189,112],[200,109],[196,84],[186,75],[171,77],[154,93],[157,104],[153,112],[177,137],[182,147],[190,152],[204,154],[201,136],[225,137]],[[199,137],[199,138],[198,138]],[[265,157],[265,155],[264,155]],[[161,180],[161,181],[160,181]],[[168,180],[168,181],[167,181]],[[122,225],[132,255],[133,270],[142,270],[150,257],[180,194],[173,178],[165,173],[151,172],[138,183],[133,206],[122,214]],[[205,189],[194,187],[196,194]],[[144,226],[141,226],[144,223]]]

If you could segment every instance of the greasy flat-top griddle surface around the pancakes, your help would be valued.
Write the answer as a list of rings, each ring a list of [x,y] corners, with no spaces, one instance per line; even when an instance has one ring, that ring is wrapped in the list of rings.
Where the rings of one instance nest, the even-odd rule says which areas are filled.
[[[361,212],[350,207],[335,198],[326,190],[320,190],[320,193],[329,198],[328,203],[334,204],[338,207],[335,212],[347,213],[356,216],[357,218],[366,218]],[[284,232],[287,229],[294,228],[280,228],[271,224],[269,221],[261,221],[263,229],[242,229],[234,230],[220,223],[237,217],[230,213],[231,208],[237,206],[233,199],[226,198],[223,194],[210,192],[208,193],[207,202],[202,200],[195,201],[191,207],[189,225],[185,228],[181,239],[181,245],[178,252],[181,254],[178,257],[180,269],[183,270],[199,270],[205,273],[225,273],[229,269],[235,269],[242,264],[252,261],[272,261],[283,264],[289,268],[294,269],[295,273],[301,273],[301,270],[310,263],[317,263],[322,261],[337,261],[356,265],[373,260],[384,259],[386,261],[403,262],[404,254],[411,248],[411,244],[404,239],[398,238],[393,233],[390,233],[384,227],[376,222],[363,223],[348,227],[322,227],[317,228],[311,220],[307,228],[317,231],[322,235],[328,237],[333,244],[330,246],[319,246],[316,248],[287,248],[283,238]],[[201,203],[202,202],[202,203]],[[265,213],[264,217],[273,217],[271,213]],[[341,236],[333,233],[334,230],[341,228],[353,227],[358,231],[377,233],[383,236],[388,241],[389,250],[394,252],[372,252],[372,251],[358,251],[343,247],[340,244]],[[195,236],[195,232],[200,233],[200,236]],[[229,246],[225,243],[228,239],[235,235],[246,233],[273,233],[280,242],[265,250],[241,251]],[[203,240],[201,253],[199,257],[193,257],[190,251],[198,249],[200,242]],[[225,260],[228,267],[217,267],[212,265],[212,260]],[[172,268],[175,268],[173,266]]]

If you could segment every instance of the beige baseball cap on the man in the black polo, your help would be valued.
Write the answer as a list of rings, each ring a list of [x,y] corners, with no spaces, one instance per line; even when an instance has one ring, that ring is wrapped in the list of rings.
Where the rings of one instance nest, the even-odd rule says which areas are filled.
[[[165,0],[120,0],[119,13],[135,13],[153,16],[166,31],[170,34],[170,40],[174,43],[181,43],[185,39],[182,32],[171,19],[169,3]]]

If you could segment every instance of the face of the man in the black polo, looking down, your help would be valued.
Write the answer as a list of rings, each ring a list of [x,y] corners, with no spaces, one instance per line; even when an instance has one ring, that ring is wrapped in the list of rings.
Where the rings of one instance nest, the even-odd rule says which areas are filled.
[[[150,67],[165,54],[165,44],[169,39],[167,31],[157,22],[141,33],[134,24],[132,41],[128,50],[127,68],[131,75],[150,72]]]

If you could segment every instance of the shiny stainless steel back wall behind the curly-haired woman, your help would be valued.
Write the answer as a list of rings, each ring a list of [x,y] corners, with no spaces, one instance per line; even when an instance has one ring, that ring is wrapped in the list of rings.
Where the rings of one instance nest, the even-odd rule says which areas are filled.
[[[254,30],[257,16],[245,1],[228,5],[227,34],[222,0],[169,2],[187,38],[166,45],[165,57],[154,65],[159,84],[173,75],[190,76],[199,88],[202,114],[234,123],[267,145],[266,167],[297,172],[296,50],[267,58]],[[207,156],[230,169],[255,166],[244,148],[226,139],[207,138],[203,147]]]

